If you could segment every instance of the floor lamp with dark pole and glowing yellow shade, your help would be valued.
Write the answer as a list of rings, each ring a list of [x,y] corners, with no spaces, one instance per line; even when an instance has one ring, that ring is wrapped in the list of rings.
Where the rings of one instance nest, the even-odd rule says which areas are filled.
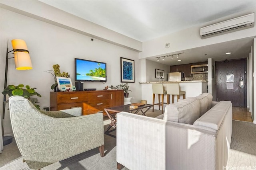
[[[5,77],[4,77],[4,88],[7,86],[7,72],[8,72],[8,59],[13,59],[15,62],[16,70],[30,70],[32,69],[32,63],[29,56],[28,47],[26,42],[22,39],[13,39],[12,40],[12,51],[14,57],[8,58],[8,54],[12,51],[8,51],[8,43],[7,41],[7,50],[6,50],[6,65],[5,65]],[[6,101],[6,95],[4,95],[4,103],[3,103],[3,124],[2,124],[2,135],[3,135],[3,143],[4,145],[8,145],[12,143],[12,136],[4,136],[4,115],[5,115],[5,105],[8,101]]]

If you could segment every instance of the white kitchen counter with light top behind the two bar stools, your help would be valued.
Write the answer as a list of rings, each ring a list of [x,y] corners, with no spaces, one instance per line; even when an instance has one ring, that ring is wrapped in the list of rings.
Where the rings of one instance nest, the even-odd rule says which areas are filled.
[[[204,92],[207,92],[207,83],[206,80],[185,80],[185,81],[171,81],[171,82],[140,82],[142,87],[142,100],[147,100],[148,104],[152,104],[152,84],[154,83],[162,83],[164,86],[164,89],[166,90],[166,86],[169,83],[179,83],[180,84],[180,90],[186,92],[186,98],[188,97],[195,97],[199,94],[202,94]],[[166,102],[167,96],[164,96],[164,102]],[[182,99],[182,96],[180,96],[180,99]],[[172,100],[172,98],[170,98]],[[156,95],[155,102],[158,101],[158,95]],[[172,102],[172,101],[170,101]],[[174,103],[177,102],[177,95],[174,96]],[[158,102],[156,102],[158,103]],[[166,106],[166,105],[165,105]],[[155,107],[158,108],[158,107]]]

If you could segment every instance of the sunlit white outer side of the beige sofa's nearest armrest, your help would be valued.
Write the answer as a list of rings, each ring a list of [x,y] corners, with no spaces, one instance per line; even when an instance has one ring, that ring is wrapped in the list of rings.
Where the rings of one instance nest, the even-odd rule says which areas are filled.
[[[132,169],[166,169],[166,121],[132,113],[117,113],[116,161]]]

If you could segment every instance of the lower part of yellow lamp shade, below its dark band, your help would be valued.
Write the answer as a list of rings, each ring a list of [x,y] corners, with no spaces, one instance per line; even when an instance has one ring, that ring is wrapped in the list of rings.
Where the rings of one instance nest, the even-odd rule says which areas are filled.
[[[33,68],[29,53],[24,53],[24,52],[14,53],[14,61],[15,61],[16,70],[30,70]]]

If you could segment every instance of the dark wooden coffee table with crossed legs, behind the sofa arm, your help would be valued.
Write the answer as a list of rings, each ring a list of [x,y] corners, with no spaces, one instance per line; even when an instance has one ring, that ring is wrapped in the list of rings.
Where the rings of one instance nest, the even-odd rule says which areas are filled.
[[[138,105],[138,108],[130,109],[131,105]],[[116,113],[125,111],[129,113],[137,114],[139,111],[142,112],[142,115],[146,116],[145,113],[152,107],[152,104],[127,104],[122,106],[116,106],[116,107],[110,107],[104,109],[108,115],[108,118],[110,119],[111,123],[108,126],[108,129],[106,129],[105,134],[109,135],[111,137],[116,138],[115,135],[110,134],[110,132],[116,130]],[[147,108],[146,111],[143,111],[142,109]],[[134,112],[133,112],[134,111]],[[115,129],[110,130],[111,127],[114,127]]]

